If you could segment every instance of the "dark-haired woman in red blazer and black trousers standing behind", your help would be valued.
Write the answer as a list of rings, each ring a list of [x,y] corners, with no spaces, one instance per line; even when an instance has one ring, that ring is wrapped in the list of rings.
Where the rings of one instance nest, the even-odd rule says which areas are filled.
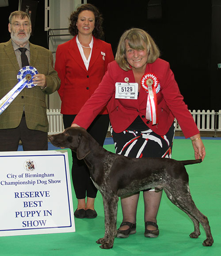
[[[70,16],[69,32],[74,37],[57,47],[55,70],[61,79],[58,93],[65,128],[71,126],[76,114],[101,82],[108,63],[114,60],[111,45],[98,39],[103,36],[102,21],[95,6],[81,5]],[[103,146],[108,127],[109,117],[106,108],[103,108],[88,132]],[[97,216],[94,209],[97,189],[84,161],[79,161],[74,152],[72,159],[72,180],[78,199],[74,215],[94,218]]]

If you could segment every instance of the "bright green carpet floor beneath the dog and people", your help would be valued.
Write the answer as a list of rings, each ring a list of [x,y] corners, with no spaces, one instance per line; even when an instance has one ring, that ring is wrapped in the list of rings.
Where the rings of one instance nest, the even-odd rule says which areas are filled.
[[[188,165],[192,197],[198,209],[205,214],[213,234],[212,247],[202,246],[205,232],[191,239],[194,227],[185,213],[175,207],[163,194],[158,213],[160,236],[145,238],[144,206],[142,194],[137,210],[137,233],[126,239],[115,239],[110,250],[99,248],[95,241],[104,235],[103,201],[100,193],[95,201],[98,217],[75,219],[76,232],[30,236],[0,237],[0,256],[220,256],[221,255],[221,140],[203,140],[206,158],[201,164]],[[105,146],[113,151],[113,145]],[[69,152],[70,156],[70,152]],[[190,140],[175,139],[172,158],[194,159]],[[73,194],[74,210],[76,198]],[[117,225],[122,221],[121,206],[118,206]]]

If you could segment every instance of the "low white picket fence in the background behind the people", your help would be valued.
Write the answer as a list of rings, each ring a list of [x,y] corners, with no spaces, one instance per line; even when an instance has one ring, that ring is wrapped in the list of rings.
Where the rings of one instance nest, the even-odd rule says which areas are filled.
[[[190,110],[190,112],[200,131],[210,131],[214,133],[221,131],[221,110],[218,112],[215,112],[214,110]],[[63,118],[60,110],[48,109],[47,116],[49,122],[49,134],[57,134],[64,130]],[[177,122],[176,130],[181,130]]]

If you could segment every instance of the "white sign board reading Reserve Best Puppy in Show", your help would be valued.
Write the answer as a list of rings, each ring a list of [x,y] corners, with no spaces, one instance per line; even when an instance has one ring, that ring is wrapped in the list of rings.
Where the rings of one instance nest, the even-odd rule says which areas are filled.
[[[68,153],[0,152],[0,236],[75,232]]]

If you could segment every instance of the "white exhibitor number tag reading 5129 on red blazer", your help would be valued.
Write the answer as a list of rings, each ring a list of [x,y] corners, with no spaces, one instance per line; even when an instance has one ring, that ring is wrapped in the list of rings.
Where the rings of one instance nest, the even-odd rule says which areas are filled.
[[[115,98],[137,99],[138,83],[115,83]]]

